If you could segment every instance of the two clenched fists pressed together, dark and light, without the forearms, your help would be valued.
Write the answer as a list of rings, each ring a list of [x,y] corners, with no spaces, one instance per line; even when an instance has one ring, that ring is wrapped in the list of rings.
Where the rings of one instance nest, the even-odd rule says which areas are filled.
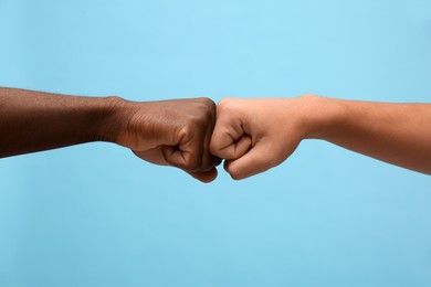
[[[306,136],[303,99],[209,98],[123,102],[126,126],[116,142],[139,158],[209,182],[216,167],[243,179],[283,162]]]

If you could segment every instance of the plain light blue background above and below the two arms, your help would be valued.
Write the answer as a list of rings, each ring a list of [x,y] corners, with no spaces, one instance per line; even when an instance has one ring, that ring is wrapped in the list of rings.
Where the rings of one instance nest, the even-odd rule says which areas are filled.
[[[430,103],[430,78],[425,0],[0,0],[1,86]],[[319,141],[221,173],[108,144],[0,160],[0,286],[431,286],[430,177]]]

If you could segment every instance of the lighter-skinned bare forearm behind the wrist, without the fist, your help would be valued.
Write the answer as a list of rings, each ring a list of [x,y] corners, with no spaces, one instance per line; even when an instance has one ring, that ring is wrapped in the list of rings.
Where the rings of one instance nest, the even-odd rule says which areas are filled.
[[[431,174],[431,105],[308,98],[309,138]]]

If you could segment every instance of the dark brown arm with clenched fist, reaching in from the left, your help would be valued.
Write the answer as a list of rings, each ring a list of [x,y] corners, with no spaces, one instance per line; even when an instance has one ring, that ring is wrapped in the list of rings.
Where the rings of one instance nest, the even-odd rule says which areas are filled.
[[[217,177],[209,152],[216,104],[209,98],[136,103],[0,87],[0,157],[108,141],[202,182]]]

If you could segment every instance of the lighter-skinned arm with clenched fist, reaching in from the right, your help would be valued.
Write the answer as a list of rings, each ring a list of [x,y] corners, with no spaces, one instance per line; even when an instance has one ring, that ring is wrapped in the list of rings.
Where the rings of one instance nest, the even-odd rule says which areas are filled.
[[[210,150],[233,179],[285,161],[304,139],[320,139],[431,174],[431,105],[298,98],[224,98]]]

